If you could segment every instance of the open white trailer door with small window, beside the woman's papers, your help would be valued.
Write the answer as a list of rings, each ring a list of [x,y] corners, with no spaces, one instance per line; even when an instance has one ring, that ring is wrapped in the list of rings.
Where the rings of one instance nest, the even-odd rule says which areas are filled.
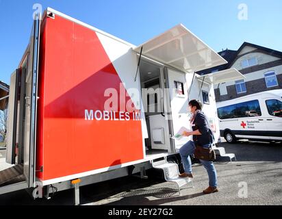
[[[190,129],[190,114],[188,113],[188,86],[185,73],[166,68],[170,97],[170,133],[175,136],[181,127]],[[190,137],[189,137],[190,138]],[[189,138],[173,140],[175,151],[188,142]]]

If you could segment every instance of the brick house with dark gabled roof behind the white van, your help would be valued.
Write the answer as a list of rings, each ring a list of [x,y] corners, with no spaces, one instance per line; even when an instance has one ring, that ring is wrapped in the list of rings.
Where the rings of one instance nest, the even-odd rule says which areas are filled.
[[[226,49],[220,54],[228,64],[199,71],[199,75],[218,70],[236,68],[246,78],[214,85],[216,102],[235,99],[240,96],[282,89],[282,52],[256,44],[244,42],[238,51]]]

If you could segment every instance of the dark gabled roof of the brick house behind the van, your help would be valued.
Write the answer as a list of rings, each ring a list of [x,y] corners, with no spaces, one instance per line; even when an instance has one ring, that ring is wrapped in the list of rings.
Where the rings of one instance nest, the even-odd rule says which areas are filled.
[[[241,47],[236,51],[236,50],[229,50],[226,49],[224,51],[220,51],[218,54],[221,55],[225,60],[227,60],[228,64],[224,64],[221,66],[217,66],[214,68],[209,68],[209,69],[205,69],[205,70],[201,70],[198,71],[197,74],[198,75],[206,75],[209,74],[211,72],[213,72],[214,70],[225,70],[227,68],[230,68],[233,63],[236,60],[236,57],[238,57],[238,55],[240,54],[240,52],[242,51],[242,49],[244,49],[244,47],[254,47],[256,49],[262,50],[262,51],[266,51],[266,53],[268,53],[268,55],[273,55],[273,56],[277,56],[277,57],[281,57],[282,58],[282,52],[281,51],[277,51],[274,49],[270,49],[270,48],[266,48],[266,47],[261,47],[257,44],[253,44],[250,42],[244,42]]]

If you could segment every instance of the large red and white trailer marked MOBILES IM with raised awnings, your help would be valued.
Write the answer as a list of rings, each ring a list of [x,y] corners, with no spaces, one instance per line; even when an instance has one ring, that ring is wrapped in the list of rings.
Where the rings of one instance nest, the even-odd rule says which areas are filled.
[[[242,75],[195,72],[225,63],[183,25],[136,47],[47,8],[11,76],[6,160],[14,166],[0,172],[0,194],[34,188],[37,198],[50,185],[144,175],[189,140],[171,137],[189,126],[190,99],[203,101],[218,139],[212,83]]]

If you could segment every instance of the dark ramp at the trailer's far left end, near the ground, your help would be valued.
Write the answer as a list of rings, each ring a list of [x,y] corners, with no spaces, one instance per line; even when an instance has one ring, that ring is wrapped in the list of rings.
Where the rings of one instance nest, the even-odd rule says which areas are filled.
[[[0,186],[20,183],[22,181],[25,181],[25,177],[23,175],[23,164],[18,164],[0,171]]]

